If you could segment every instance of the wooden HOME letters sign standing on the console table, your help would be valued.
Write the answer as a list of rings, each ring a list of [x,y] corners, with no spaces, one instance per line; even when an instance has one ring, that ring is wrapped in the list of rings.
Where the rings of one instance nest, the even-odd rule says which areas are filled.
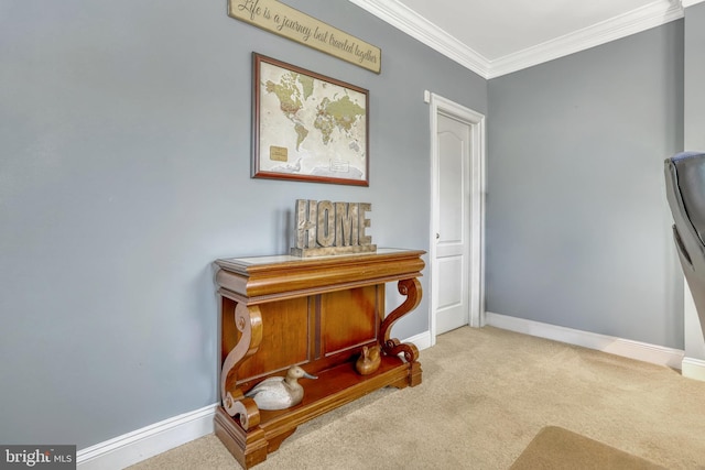
[[[377,251],[366,214],[369,203],[332,203],[329,200],[296,200],[294,256],[368,253]]]

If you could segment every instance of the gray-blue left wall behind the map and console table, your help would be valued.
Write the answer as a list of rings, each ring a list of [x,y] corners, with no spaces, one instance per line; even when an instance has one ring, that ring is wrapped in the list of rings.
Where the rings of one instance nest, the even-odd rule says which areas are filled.
[[[284,252],[297,198],[369,201],[378,245],[429,249],[423,91],[487,112],[486,80],[345,0],[286,3],[382,74],[225,0],[0,3],[0,442],[82,449],[215,403],[212,262]],[[253,51],[369,89],[369,188],[250,178]],[[424,300],[393,332],[427,329]]]

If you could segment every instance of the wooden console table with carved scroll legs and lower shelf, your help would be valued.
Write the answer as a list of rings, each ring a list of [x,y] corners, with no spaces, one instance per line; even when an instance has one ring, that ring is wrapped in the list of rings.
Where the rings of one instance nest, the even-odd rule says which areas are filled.
[[[390,338],[392,325],[421,302],[417,280],[424,251],[380,249],[376,253],[319,258],[258,256],[217,260],[221,303],[221,405],[216,435],[245,468],[267,455],[296,426],[383,386],[421,383],[419,350]],[[384,284],[398,282],[404,302],[384,315]],[[380,345],[377,372],[360,375],[362,347]],[[259,409],[251,387],[301,365],[299,405]]]

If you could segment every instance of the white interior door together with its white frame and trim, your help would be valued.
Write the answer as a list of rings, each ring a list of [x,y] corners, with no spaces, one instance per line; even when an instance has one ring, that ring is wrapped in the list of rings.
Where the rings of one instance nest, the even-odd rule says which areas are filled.
[[[484,324],[485,117],[436,95],[432,120],[431,335]]]

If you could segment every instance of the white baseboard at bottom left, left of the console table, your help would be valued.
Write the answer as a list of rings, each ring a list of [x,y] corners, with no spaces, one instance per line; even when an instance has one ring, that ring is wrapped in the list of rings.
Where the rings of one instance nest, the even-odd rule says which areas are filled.
[[[120,470],[214,431],[218,404],[143,427],[76,452],[80,470]]]

